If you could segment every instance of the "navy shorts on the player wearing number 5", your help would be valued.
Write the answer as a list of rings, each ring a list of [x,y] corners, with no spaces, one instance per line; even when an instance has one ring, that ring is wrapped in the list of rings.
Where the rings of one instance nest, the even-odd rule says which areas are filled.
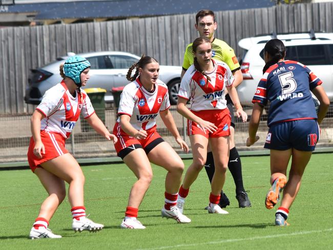
[[[273,124],[266,137],[265,149],[314,151],[319,140],[317,120],[294,120]]]

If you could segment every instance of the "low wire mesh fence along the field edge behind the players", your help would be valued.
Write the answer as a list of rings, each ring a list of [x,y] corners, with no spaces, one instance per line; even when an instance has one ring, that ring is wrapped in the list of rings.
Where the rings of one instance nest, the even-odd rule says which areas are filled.
[[[248,115],[251,115],[252,108],[245,108],[244,110]],[[177,113],[175,106],[171,107],[170,111],[174,117],[180,135],[183,136],[185,141],[190,145],[189,137],[186,135],[186,119]],[[105,112],[105,117],[103,117],[105,124],[108,129],[112,131],[116,122],[115,109],[107,108],[105,111],[96,110],[96,113],[99,115],[101,112]],[[0,117],[0,147],[2,148],[0,151],[0,162],[27,160],[26,154],[31,137],[30,117],[31,115]],[[240,119],[236,118],[235,141],[239,151],[263,149],[268,131],[266,118],[267,116],[264,113],[258,130],[260,140],[251,148],[246,148],[245,146],[248,122],[241,122]],[[331,105],[327,117],[321,125],[321,136],[317,147],[333,147],[332,124],[333,106]],[[157,118],[157,128],[163,139],[169,142],[178,153],[182,153],[175,139],[165,128],[159,117]],[[93,131],[89,127],[89,124],[82,118],[78,120],[72,135],[66,141],[66,148],[77,158],[116,156],[113,143]]]

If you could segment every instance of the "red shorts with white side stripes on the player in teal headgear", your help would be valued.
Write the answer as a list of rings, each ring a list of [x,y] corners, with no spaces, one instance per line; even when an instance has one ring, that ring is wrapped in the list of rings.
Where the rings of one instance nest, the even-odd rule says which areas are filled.
[[[67,149],[65,149],[64,136],[58,133],[40,131],[40,137],[41,142],[43,142],[45,147],[45,154],[41,154],[41,159],[34,155],[33,148],[35,147],[35,141],[32,137],[30,139],[28,149],[28,162],[32,172],[35,172],[36,168],[41,168],[41,163],[68,153]]]

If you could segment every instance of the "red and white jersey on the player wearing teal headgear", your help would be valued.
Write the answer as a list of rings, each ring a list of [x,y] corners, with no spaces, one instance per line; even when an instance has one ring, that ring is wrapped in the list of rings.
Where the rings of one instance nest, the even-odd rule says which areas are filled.
[[[76,97],[73,97],[64,81],[46,91],[36,109],[45,115],[41,120],[40,130],[59,133],[66,139],[80,113],[84,118],[95,113],[87,93],[84,90],[80,94],[76,91]]]

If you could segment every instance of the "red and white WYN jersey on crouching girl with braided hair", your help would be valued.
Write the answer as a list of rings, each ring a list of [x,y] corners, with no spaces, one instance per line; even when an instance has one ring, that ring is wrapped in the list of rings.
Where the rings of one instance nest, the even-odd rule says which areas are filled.
[[[131,116],[130,123],[135,129],[148,130],[155,126],[159,111],[169,108],[168,87],[157,79],[156,88],[151,93],[143,88],[138,77],[123,89],[118,114]]]

